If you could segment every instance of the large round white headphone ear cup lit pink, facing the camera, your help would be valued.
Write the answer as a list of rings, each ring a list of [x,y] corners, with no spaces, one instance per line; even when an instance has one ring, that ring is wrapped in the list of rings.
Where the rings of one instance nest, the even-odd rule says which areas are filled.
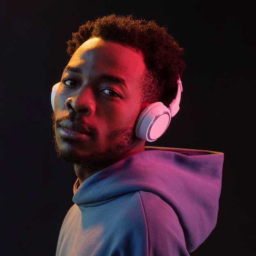
[[[135,134],[146,141],[155,141],[166,131],[171,121],[171,110],[162,102],[148,105],[139,115]]]

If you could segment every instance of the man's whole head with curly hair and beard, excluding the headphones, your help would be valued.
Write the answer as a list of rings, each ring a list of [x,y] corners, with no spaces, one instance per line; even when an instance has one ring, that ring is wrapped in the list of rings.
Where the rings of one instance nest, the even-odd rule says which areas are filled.
[[[137,117],[172,90],[172,85],[163,87],[166,81],[174,79],[177,90],[177,77],[184,68],[177,56],[182,51],[154,22],[133,20],[131,16],[104,17],[87,22],[79,31],[68,42],[71,59],[56,92],[56,144],[64,159],[102,169],[144,150],[145,141],[134,132]],[[164,44],[162,47],[157,46],[157,31],[162,35],[158,42]],[[167,61],[163,52],[170,45],[171,54],[165,53],[173,56],[173,61]],[[173,70],[167,67],[167,63],[175,62],[178,65]]]

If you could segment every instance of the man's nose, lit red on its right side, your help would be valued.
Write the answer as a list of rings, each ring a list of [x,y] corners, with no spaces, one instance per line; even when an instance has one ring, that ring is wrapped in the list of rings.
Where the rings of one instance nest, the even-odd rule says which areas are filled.
[[[83,115],[93,115],[96,109],[95,99],[92,90],[82,89],[73,97],[67,98],[65,102],[69,112],[79,112]]]

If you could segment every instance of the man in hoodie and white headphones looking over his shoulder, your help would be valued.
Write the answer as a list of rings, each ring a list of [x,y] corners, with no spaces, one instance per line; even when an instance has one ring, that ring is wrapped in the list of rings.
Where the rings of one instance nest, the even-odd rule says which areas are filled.
[[[57,256],[188,256],[215,227],[223,154],[145,148],[178,111],[182,52],[154,21],[114,14],[68,42],[53,127],[78,179]]]

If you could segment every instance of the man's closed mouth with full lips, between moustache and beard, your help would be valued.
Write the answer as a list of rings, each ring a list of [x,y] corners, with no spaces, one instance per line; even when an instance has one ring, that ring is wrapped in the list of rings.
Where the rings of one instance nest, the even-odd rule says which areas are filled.
[[[63,139],[72,139],[76,141],[85,141],[92,137],[92,130],[78,122],[63,120],[56,124],[58,133]]]

